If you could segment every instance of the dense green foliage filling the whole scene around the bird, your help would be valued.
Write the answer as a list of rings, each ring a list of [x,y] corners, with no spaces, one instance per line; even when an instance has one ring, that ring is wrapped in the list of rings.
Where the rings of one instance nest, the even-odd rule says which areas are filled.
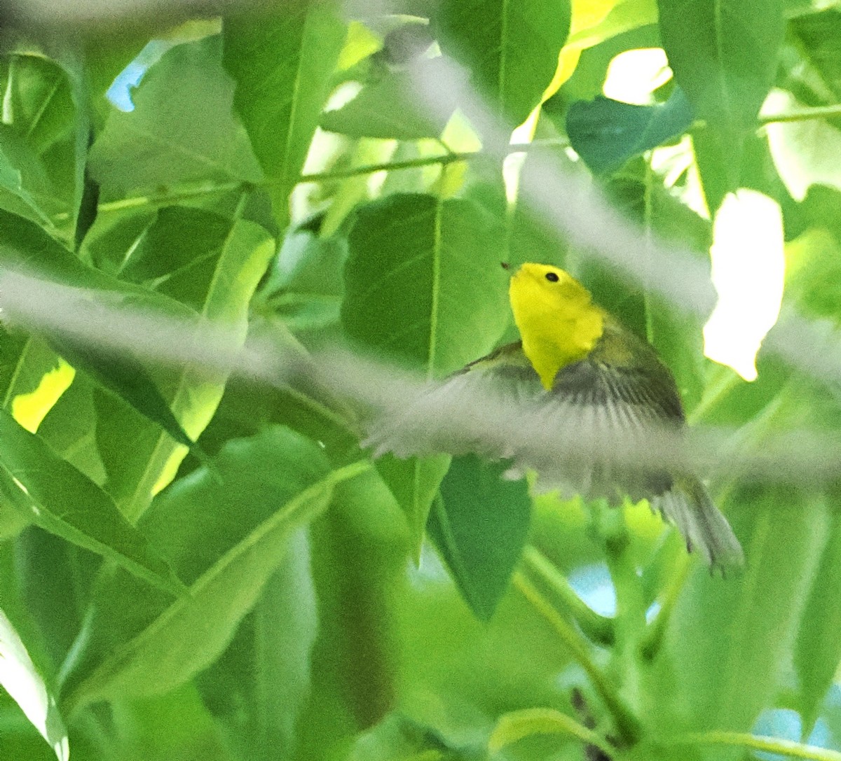
[[[33,296],[57,322],[0,326],[0,758],[841,759],[841,6],[394,5],[4,28],[0,306],[13,271],[66,289]],[[674,76],[609,76],[648,49]],[[605,89],[623,67],[636,102]],[[545,156],[698,265],[672,297],[639,247],[621,273],[580,243],[598,203],[556,224],[517,195]],[[780,207],[801,320],[753,382],[681,308],[711,293],[739,189]],[[193,353],[198,325],[278,368],[339,346],[442,378],[515,336],[499,263],[523,261],[573,272],[672,368],[718,436],[701,475],[740,573],[644,503],[372,459],[341,379]],[[138,312],[181,338],[102,338]],[[772,481],[740,459],[764,453]]]

